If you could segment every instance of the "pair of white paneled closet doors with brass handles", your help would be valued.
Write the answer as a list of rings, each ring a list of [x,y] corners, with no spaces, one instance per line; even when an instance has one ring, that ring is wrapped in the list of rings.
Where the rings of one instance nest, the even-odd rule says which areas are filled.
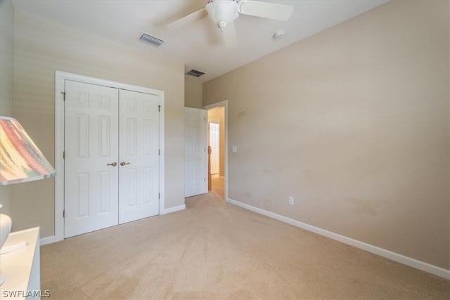
[[[65,237],[159,214],[159,105],[65,81]]]

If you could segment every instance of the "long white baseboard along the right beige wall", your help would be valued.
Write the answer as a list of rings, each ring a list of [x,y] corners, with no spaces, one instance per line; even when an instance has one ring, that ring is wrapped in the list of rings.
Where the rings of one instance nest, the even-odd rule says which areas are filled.
[[[284,223],[288,223],[290,225],[302,228],[304,230],[311,231],[313,233],[317,233],[319,235],[323,235],[325,237],[329,237],[330,239],[337,240],[339,242],[343,242],[344,244],[349,244],[350,246],[366,250],[367,252],[371,252],[373,254],[377,254],[379,256],[383,256],[386,259],[391,259],[392,261],[397,261],[399,263],[403,263],[406,266],[410,266],[412,268],[416,268],[418,270],[423,270],[425,272],[437,275],[439,277],[450,280],[450,270],[446,270],[444,268],[440,268],[438,266],[433,266],[430,263],[425,263],[423,261],[418,261],[417,259],[412,259],[411,257],[404,256],[402,254],[398,254],[387,249],[383,249],[380,247],[376,247],[373,244],[367,244],[365,242],[361,242],[359,240],[354,240],[350,237],[345,237],[344,235],[338,235],[337,233],[332,233],[328,230],[324,230],[315,226],[308,225],[307,223],[302,223],[300,221],[296,221],[293,219],[289,219],[285,216],[281,216],[279,214],[274,214],[271,211],[266,211],[264,209],[259,209],[257,207],[252,207],[251,205],[238,202],[236,200],[232,200],[227,198],[226,202],[230,204],[234,204],[238,207],[243,207],[244,209],[248,209],[250,211],[255,211],[258,214],[263,214],[264,216],[269,216],[272,219],[276,219],[278,221],[282,221]]]

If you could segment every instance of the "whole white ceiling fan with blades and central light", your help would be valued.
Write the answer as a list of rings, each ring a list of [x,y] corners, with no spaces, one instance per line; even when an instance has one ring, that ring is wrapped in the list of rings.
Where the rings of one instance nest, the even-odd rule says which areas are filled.
[[[170,23],[167,25],[167,28],[178,29],[185,27],[208,16],[223,32],[226,46],[233,48],[238,44],[233,21],[238,18],[239,14],[287,21],[293,10],[293,6],[262,1],[209,0],[205,8],[201,8],[186,15],[184,18]]]

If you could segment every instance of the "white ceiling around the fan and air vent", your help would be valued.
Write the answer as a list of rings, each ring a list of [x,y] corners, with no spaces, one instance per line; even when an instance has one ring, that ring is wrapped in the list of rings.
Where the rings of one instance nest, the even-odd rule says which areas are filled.
[[[145,51],[160,53],[206,72],[205,82],[268,53],[353,18],[387,0],[265,1],[294,6],[288,22],[240,15],[235,21],[238,46],[228,49],[221,31],[208,18],[179,30],[170,22],[205,7],[207,0],[12,0],[16,11]],[[260,0],[264,1],[264,0]],[[283,39],[273,39],[285,30]],[[141,32],[165,40],[156,48],[138,41]]]

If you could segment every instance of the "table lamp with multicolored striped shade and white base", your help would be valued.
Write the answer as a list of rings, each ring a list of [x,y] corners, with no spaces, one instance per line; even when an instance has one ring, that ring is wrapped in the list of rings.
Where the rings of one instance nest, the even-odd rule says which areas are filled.
[[[22,125],[11,117],[0,116],[0,185],[23,183],[55,176],[56,171],[37,148]],[[1,208],[1,204],[0,204]],[[26,242],[3,245],[11,232],[11,218],[0,214],[0,253],[11,252],[25,247]],[[4,282],[0,273],[0,285]]]

